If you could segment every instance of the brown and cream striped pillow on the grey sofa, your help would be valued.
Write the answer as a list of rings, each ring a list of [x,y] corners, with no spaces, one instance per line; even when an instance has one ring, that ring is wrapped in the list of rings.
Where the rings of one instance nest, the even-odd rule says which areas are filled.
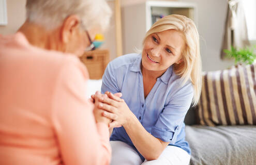
[[[204,72],[198,118],[202,125],[256,125],[256,63]]]

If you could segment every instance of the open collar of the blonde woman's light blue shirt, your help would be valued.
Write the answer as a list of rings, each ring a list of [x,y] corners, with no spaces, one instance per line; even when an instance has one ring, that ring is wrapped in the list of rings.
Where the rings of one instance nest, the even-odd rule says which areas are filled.
[[[135,59],[131,67],[132,72],[141,72],[141,54]],[[170,77],[172,76],[173,65],[171,65],[164,73],[159,77],[163,83],[168,84]]]

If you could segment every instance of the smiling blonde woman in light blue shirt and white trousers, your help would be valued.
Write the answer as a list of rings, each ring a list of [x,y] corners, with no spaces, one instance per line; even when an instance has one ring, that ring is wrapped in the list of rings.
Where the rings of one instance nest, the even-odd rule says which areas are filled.
[[[111,164],[189,164],[184,118],[201,91],[197,28],[169,15],[147,31],[143,45],[141,54],[110,62],[103,76],[102,93],[109,92],[97,106],[115,127]]]

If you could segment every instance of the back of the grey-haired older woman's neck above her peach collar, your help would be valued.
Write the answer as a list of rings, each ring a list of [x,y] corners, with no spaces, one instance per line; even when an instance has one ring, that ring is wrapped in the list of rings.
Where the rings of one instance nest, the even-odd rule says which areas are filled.
[[[44,27],[26,21],[18,30],[27,38],[28,42],[36,47],[47,50],[58,50],[57,42],[54,42],[57,31],[46,30]]]

